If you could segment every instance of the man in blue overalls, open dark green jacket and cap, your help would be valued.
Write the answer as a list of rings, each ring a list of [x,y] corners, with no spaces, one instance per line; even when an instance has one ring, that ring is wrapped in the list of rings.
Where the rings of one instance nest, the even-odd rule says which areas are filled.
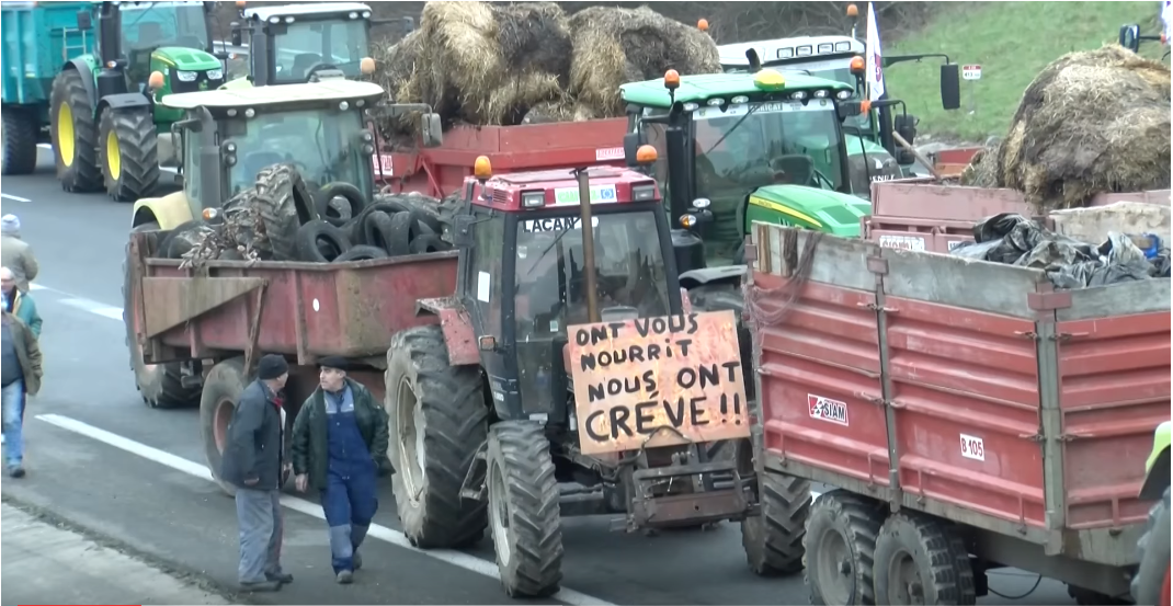
[[[346,376],[345,359],[319,363],[319,387],[293,422],[293,474],[298,490],[321,491],[334,576],[347,584],[362,567],[358,550],[379,509],[375,479],[389,467],[387,414]]]

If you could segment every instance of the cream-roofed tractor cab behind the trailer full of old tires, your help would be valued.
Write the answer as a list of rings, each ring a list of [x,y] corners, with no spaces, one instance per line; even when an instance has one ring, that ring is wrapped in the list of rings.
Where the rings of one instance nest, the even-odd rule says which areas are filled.
[[[172,195],[183,196],[183,217],[213,217],[224,200],[252,186],[262,169],[278,163],[293,164],[311,193],[327,184],[346,183],[371,196],[375,141],[366,111],[382,94],[378,84],[338,79],[164,97],[165,107],[185,116],[175,124],[183,191]],[[423,141],[436,142],[439,137],[425,134]],[[135,220],[140,220],[141,207],[161,199],[168,198],[136,204]],[[175,223],[154,215],[152,220],[161,224]]]

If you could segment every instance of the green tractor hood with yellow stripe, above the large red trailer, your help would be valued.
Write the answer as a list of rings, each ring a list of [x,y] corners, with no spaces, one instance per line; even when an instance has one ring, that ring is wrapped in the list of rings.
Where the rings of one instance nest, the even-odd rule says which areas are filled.
[[[846,238],[859,238],[860,218],[872,213],[867,200],[804,185],[759,188],[750,195],[750,204],[778,212],[787,224]]]

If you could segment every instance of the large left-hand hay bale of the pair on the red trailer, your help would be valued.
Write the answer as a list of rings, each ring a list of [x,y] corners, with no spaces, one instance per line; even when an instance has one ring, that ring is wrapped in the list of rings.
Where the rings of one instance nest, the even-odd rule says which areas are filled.
[[[552,2],[428,2],[420,61],[398,101],[428,103],[448,123],[517,124],[569,80],[570,32]]]

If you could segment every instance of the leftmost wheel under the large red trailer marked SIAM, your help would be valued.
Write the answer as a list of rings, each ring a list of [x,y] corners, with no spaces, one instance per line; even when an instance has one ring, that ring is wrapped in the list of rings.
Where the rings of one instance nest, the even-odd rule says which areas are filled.
[[[846,490],[815,499],[802,542],[811,604],[876,604],[874,557],[883,515],[879,503]]]

